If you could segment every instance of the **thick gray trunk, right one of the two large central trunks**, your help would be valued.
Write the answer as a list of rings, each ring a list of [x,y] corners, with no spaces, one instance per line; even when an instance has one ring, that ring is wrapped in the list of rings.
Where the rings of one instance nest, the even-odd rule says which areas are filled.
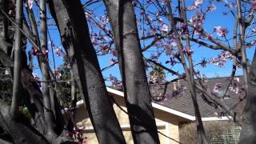
[[[132,1],[106,0],[134,143],[160,143]]]

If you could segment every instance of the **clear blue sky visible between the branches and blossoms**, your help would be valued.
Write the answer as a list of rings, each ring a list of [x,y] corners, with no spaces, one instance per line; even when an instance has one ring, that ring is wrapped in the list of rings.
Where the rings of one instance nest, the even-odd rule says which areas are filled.
[[[192,4],[192,2],[194,2],[194,1],[191,0],[191,1],[186,1],[186,2],[187,2],[186,6],[190,6]],[[232,34],[233,26],[234,26],[233,16],[231,14],[223,15],[223,11],[228,10],[226,8],[226,6],[224,6],[223,2],[214,2],[214,5],[217,6],[218,9],[211,12],[210,14],[207,14],[206,21],[204,22],[204,26],[203,26],[204,29],[206,31],[212,33],[214,35],[214,37],[216,37],[216,34],[214,34],[214,32],[213,32],[214,26],[222,26],[223,28],[228,29],[230,31],[230,33]],[[205,7],[205,6],[203,6],[203,7]],[[36,14],[39,14],[38,10],[36,8],[34,8],[34,10],[36,11]],[[98,16],[103,15],[105,13],[105,11],[104,11],[105,6],[102,3],[97,3],[93,6],[90,6],[90,10],[93,10],[94,14],[96,14]],[[188,18],[190,19],[194,14],[195,14],[194,12],[188,13]],[[50,14],[48,14],[48,17],[50,18]],[[49,19],[48,23],[52,23],[52,20]],[[251,26],[250,28],[253,28],[253,26]],[[49,32],[50,32],[51,39],[54,41],[54,45],[62,47],[56,26],[49,26]],[[227,38],[231,37],[230,33],[226,36]],[[146,42],[144,42],[144,44],[148,44],[149,42],[150,41],[146,41]],[[232,43],[232,42],[230,41],[230,43]],[[29,47],[30,47],[30,45],[29,45]],[[154,48],[152,48],[152,49],[154,49]],[[205,47],[198,47],[197,45],[192,45],[192,49],[194,50],[193,59],[194,59],[195,63],[199,62],[202,58],[217,57],[217,55],[220,52],[220,50],[210,50]],[[28,49],[28,50],[30,50],[30,49]],[[54,65],[53,65],[53,60],[52,60],[53,58],[52,58],[52,54],[51,54],[50,45],[49,45],[49,51],[50,51],[50,53],[49,53],[50,66],[52,67],[52,70],[54,70]],[[250,48],[249,50],[247,50],[247,55],[248,55],[249,59],[252,58],[253,52],[254,52],[254,46],[252,48]],[[148,57],[149,55],[150,55],[150,53],[145,54],[146,57]],[[98,61],[100,63],[101,68],[110,65],[110,62],[109,62],[110,58],[112,58],[111,54],[106,54],[105,56],[98,56]],[[58,57],[56,54],[54,54],[54,59],[55,59],[56,66],[61,65],[63,62],[62,58]],[[160,58],[160,61],[162,61],[162,63],[164,64],[166,59],[168,59],[167,56],[162,56]],[[34,62],[37,62],[36,59],[34,59]],[[165,65],[165,66],[170,67],[170,65]],[[205,68],[202,68],[202,66],[196,66],[197,70],[200,70],[200,72],[202,74],[206,74],[206,76],[209,78],[216,77],[216,76],[229,76],[230,72],[231,72],[231,68],[232,68],[232,62],[230,62],[230,61],[227,62],[226,66],[223,66],[223,67],[207,65]],[[172,69],[177,70],[177,71],[182,71],[182,66],[174,66],[174,67],[172,67]],[[34,73],[41,76],[40,70],[38,70],[38,66],[35,67]],[[109,70],[103,71],[102,74],[105,78],[108,78],[110,76],[110,74],[113,74],[114,76],[120,78],[118,65],[113,66]],[[241,75],[242,70],[238,70],[237,74]],[[170,79],[174,78],[174,76],[166,73],[166,78],[168,80],[170,80]],[[110,86],[110,82],[106,82],[106,85]]]

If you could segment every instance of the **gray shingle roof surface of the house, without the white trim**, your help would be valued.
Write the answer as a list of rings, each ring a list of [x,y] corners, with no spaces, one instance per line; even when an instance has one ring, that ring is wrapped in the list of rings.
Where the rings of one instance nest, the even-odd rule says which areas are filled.
[[[242,77],[236,77],[239,78],[239,82],[236,84],[239,87],[243,86],[243,79]],[[216,83],[219,83],[221,86],[219,88],[219,91],[222,91],[225,89],[225,86],[227,82],[229,82],[228,78],[208,78],[208,82],[206,82],[207,89],[213,92],[214,86]],[[176,90],[174,90],[174,87],[176,86]],[[162,86],[163,88],[164,86]],[[165,94],[165,100],[157,102],[158,104],[161,104],[162,106],[169,107],[173,110],[178,110],[185,114],[190,114],[194,116],[194,106],[192,103],[192,98],[190,97],[189,90],[186,88],[186,90],[180,90],[182,87],[186,88],[186,82],[181,80],[180,82],[170,83],[167,85],[166,94]],[[151,94],[153,98],[156,98],[159,96],[159,94],[163,93],[164,90],[159,90],[158,86],[153,86],[150,88]],[[179,93],[177,94],[177,91]],[[176,92],[176,93],[175,93]],[[201,112],[202,118],[207,117],[216,117],[218,116],[218,112],[221,112],[220,109],[215,108],[214,106],[210,106],[208,103],[206,103],[199,92],[197,92],[197,99],[198,99],[198,106],[199,110]],[[242,97],[242,94],[236,94],[234,91],[228,90],[229,98],[225,98],[224,101],[227,103],[228,106],[230,106],[231,109],[234,109],[235,112],[238,114],[242,114],[242,109],[244,106],[245,100],[240,102],[240,98]]]

